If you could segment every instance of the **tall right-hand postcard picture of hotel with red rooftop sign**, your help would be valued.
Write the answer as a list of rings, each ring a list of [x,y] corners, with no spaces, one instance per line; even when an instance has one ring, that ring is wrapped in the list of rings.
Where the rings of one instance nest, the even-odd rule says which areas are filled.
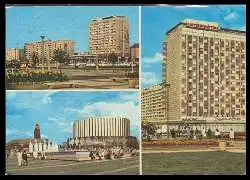
[[[141,17],[142,174],[244,174],[246,6]]]

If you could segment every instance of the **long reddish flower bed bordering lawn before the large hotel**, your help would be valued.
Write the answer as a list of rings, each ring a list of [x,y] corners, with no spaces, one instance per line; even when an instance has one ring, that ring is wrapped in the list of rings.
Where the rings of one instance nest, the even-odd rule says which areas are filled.
[[[142,145],[219,145],[218,140],[153,140],[143,141]]]

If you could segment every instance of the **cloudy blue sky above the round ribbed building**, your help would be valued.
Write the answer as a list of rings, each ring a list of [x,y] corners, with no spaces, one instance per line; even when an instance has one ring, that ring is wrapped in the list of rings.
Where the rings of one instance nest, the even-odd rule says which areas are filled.
[[[73,121],[90,116],[127,117],[138,138],[138,98],[137,92],[7,92],[6,142],[32,138],[38,122],[42,137],[62,143],[72,137]]]

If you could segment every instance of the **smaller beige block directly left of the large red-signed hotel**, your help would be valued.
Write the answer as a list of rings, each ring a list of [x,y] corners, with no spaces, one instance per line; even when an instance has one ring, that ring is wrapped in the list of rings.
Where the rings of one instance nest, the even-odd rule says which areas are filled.
[[[160,84],[145,88],[141,93],[142,121],[162,121],[166,119],[166,91]]]

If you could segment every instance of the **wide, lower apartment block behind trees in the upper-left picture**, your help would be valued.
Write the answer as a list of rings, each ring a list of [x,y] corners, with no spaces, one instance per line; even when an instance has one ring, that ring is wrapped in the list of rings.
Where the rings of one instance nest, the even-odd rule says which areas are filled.
[[[33,42],[33,43],[25,43],[25,58],[26,60],[32,60],[33,54],[37,54],[40,62],[42,59],[42,53],[44,50],[44,60],[53,60],[54,50],[63,49],[67,51],[69,56],[74,54],[75,41],[73,40],[45,40],[44,42]]]

